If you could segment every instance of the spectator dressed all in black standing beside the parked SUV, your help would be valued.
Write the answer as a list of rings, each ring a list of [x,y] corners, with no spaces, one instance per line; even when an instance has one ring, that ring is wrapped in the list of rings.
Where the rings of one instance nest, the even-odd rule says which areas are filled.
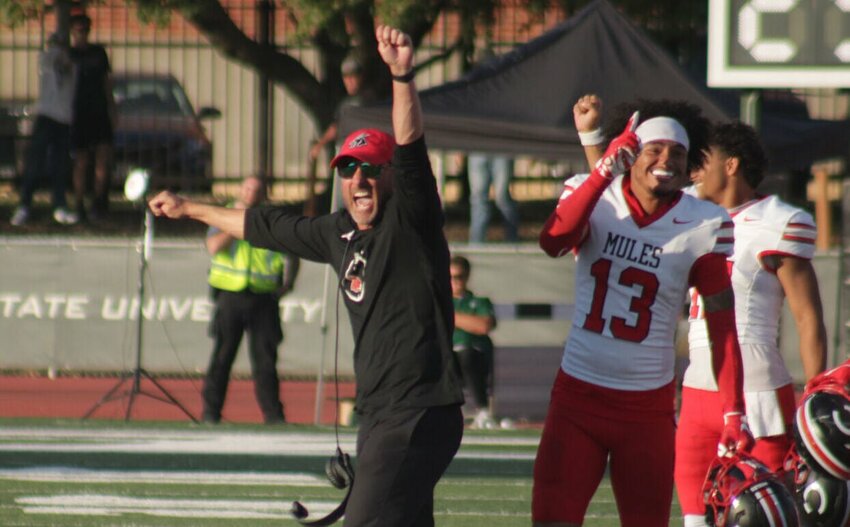
[[[73,183],[77,213],[87,219],[85,195],[89,164],[94,159],[94,200],[91,219],[106,214],[109,207],[109,165],[115,130],[115,99],[106,49],[89,42],[91,18],[71,17],[71,58],[77,65],[77,88],[71,120],[74,158]]]

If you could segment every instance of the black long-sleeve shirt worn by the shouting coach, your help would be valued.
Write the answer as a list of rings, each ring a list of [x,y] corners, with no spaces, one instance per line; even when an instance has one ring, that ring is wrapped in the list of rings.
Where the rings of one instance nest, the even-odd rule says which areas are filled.
[[[347,211],[318,218],[249,209],[245,238],[330,264],[354,335],[357,409],[383,414],[463,402],[452,352],[445,218],[424,139],[397,146],[393,192],[371,229]]]

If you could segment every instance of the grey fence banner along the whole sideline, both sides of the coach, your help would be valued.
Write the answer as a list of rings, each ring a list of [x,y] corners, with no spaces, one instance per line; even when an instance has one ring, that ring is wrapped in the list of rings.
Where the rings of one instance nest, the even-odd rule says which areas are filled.
[[[141,258],[135,239],[0,237],[0,369],[86,372],[129,371],[136,365]],[[493,341],[511,353],[562,348],[574,297],[574,261],[552,259],[536,245],[454,245],[472,263],[469,287],[493,301]],[[830,364],[845,358],[834,348],[837,254],[814,261],[830,335]],[[141,365],[157,373],[203,373],[212,342],[213,303],[206,283],[209,257],[202,240],[154,240],[145,276]],[[283,376],[333,374],[336,275],[302,261],[294,290],[281,299]],[[352,369],[351,327],[339,308],[339,371]],[[842,321],[843,326],[843,321]],[[246,339],[247,340],[247,339]],[[785,309],[782,354],[802,380],[793,317]],[[243,341],[243,348],[246,343]],[[521,363],[522,361],[520,361]],[[234,372],[250,374],[240,351]],[[525,382],[525,381],[523,381]],[[548,384],[544,380],[529,382]]]

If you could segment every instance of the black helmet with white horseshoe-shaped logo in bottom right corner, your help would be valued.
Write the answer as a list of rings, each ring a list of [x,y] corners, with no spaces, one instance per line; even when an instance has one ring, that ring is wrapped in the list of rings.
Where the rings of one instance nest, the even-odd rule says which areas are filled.
[[[850,481],[812,470],[793,446],[783,469],[794,486],[797,511],[804,527],[850,525]]]

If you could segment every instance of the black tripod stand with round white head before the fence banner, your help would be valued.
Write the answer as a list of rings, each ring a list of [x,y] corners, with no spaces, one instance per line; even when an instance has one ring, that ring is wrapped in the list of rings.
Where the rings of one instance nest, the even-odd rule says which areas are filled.
[[[168,390],[165,389],[162,384],[160,384],[156,378],[148,373],[147,370],[142,368],[142,335],[143,335],[143,324],[144,324],[144,314],[142,306],[144,305],[145,300],[145,272],[148,268],[148,260],[150,259],[150,251],[153,245],[153,214],[150,209],[144,204],[145,191],[147,190],[148,185],[148,173],[147,171],[138,169],[133,170],[127,176],[127,182],[124,185],[124,195],[127,196],[127,199],[130,201],[141,203],[142,207],[144,207],[144,217],[142,220],[142,239],[140,242],[139,248],[139,283],[138,283],[138,303],[136,306],[136,367],[132,371],[124,372],[121,375],[121,378],[118,382],[110,388],[103,397],[98,400],[94,406],[92,406],[89,411],[83,415],[83,419],[88,419],[101,405],[109,402],[115,401],[118,399],[127,398],[127,410],[124,414],[124,420],[129,421],[130,416],[133,410],[133,403],[136,401],[137,396],[147,396],[151,399],[156,399],[157,401],[162,401],[165,403],[170,403],[179,408],[186,414],[189,419],[193,422],[197,423],[198,420],[183,406],[180,401],[174,398]],[[158,390],[157,392],[145,391],[142,389],[142,378],[149,380]],[[130,387],[121,391],[121,388],[127,381],[132,381]]]

